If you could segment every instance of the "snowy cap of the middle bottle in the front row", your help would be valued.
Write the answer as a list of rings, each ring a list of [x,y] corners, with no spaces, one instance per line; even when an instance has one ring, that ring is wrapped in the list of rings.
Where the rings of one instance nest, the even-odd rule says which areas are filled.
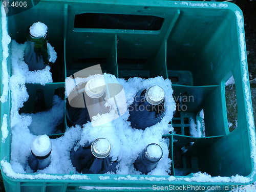
[[[111,151],[111,144],[108,139],[98,138],[93,141],[91,146],[92,154],[97,158],[108,157]]]

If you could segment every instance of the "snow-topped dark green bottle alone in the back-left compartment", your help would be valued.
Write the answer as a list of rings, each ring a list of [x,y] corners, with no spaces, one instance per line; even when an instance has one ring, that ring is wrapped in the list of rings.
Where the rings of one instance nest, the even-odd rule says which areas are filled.
[[[45,69],[49,65],[46,33],[47,26],[41,22],[34,23],[27,30],[24,61],[29,66],[29,71]]]

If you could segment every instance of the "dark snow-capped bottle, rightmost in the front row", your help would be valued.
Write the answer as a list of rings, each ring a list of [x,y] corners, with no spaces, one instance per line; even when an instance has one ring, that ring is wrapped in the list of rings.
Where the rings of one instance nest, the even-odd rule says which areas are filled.
[[[148,144],[135,160],[134,167],[141,173],[148,174],[156,168],[162,156],[163,151],[161,146],[156,143]]]

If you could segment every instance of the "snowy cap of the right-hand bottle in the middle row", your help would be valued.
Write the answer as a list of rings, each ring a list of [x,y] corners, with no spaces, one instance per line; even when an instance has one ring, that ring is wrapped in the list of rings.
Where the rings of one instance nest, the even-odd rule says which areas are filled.
[[[159,86],[152,86],[146,90],[145,97],[147,102],[153,105],[160,104],[164,99],[164,91]]]

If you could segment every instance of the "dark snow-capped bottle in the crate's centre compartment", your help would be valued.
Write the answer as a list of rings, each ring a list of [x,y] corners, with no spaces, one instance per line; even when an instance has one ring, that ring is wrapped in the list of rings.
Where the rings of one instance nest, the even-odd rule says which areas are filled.
[[[95,77],[88,82],[78,84],[71,93],[76,95],[66,103],[67,123],[83,125],[98,114],[108,113],[109,107],[104,106],[106,100],[106,84],[103,77]]]

